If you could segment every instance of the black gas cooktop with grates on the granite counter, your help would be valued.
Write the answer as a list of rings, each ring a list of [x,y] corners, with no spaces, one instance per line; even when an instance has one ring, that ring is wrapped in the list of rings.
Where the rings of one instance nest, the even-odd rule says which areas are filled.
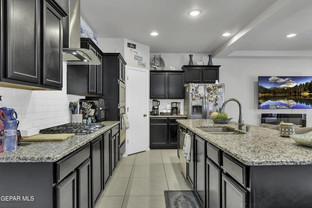
[[[68,123],[59,125],[56,127],[51,127],[47,129],[42,129],[40,133],[78,133],[78,134],[87,134],[97,131],[98,129],[104,127],[105,124],[99,123]]]

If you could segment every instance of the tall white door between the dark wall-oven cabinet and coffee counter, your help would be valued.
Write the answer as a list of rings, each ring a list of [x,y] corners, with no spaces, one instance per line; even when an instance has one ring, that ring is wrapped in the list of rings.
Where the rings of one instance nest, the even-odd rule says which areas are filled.
[[[126,113],[130,128],[126,133],[126,154],[149,150],[149,71],[127,67]]]

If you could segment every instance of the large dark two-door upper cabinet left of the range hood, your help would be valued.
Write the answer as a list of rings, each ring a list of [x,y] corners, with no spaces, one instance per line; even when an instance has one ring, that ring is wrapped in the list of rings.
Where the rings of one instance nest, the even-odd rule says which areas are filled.
[[[62,88],[62,18],[54,0],[1,0],[0,86]]]

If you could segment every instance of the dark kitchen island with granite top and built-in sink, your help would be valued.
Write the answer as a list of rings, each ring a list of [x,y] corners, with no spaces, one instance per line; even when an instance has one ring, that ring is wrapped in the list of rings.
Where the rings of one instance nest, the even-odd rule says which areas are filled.
[[[234,122],[177,122],[192,135],[186,177],[207,208],[312,207],[312,148],[280,137],[276,130],[256,126],[246,133]],[[237,134],[202,129],[215,127]]]

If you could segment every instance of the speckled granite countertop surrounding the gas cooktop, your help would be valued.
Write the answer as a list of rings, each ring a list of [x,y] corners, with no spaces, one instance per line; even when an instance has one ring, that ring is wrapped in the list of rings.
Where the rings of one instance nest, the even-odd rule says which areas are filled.
[[[13,162],[56,162],[67,154],[77,150],[100,134],[113,128],[119,121],[103,121],[105,127],[90,134],[76,134],[65,141],[27,142],[27,146],[18,146],[10,153],[0,152],[0,163]]]

